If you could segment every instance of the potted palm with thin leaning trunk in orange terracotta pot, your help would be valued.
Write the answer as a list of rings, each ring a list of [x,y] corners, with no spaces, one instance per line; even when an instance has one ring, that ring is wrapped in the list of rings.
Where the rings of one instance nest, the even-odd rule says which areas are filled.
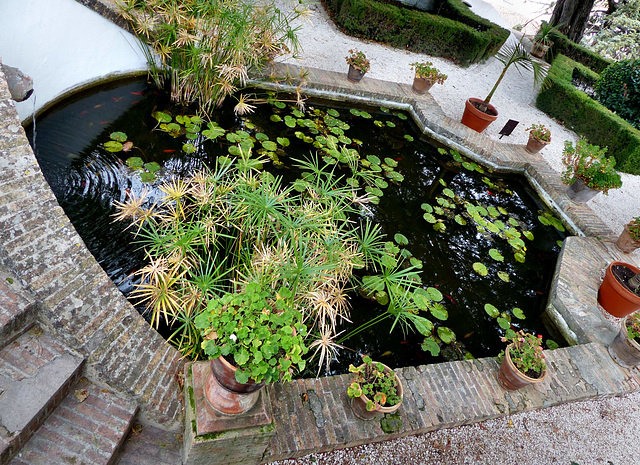
[[[504,65],[502,72],[498,76],[498,80],[484,100],[478,98],[470,98],[465,104],[464,113],[462,115],[462,124],[477,132],[484,131],[489,124],[498,118],[498,110],[491,105],[491,97],[502,82],[507,70],[513,65],[519,71],[526,70],[533,72],[534,86],[542,83],[547,75],[548,65],[534,59],[522,45],[520,38],[517,44],[506,43],[495,57]]]

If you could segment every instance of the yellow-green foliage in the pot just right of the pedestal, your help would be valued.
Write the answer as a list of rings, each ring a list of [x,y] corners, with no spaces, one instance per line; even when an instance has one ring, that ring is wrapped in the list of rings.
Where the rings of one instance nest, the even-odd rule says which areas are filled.
[[[385,370],[380,362],[374,362],[371,357],[362,357],[362,365],[349,365],[349,372],[354,374],[353,382],[347,388],[347,395],[351,398],[365,396],[368,411],[378,407],[391,407],[402,399],[398,395],[398,382],[393,370]]]

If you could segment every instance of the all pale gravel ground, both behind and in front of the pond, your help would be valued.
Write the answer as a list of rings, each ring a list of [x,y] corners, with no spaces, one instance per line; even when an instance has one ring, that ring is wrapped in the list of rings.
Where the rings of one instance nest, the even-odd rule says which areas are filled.
[[[526,25],[535,32],[540,20],[549,17],[549,0],[467,0],[474,11],[507,26]],[[495,59],[460,68],[453,63],[428,55],[394,49],[357,40],[340,33],[319,4],[313,5],[311,22],[304,22],[299,34],[303,54],[300,60],[287,60],[306,67],[346,72],[344,57],[358,48],[371,60],[367,77],[411,83],[410,63],[431,61],[449,76],[444,85],[436,85],[431,95],[451,118],[462,115],[468,97],[484,98],[497,79],[502,65]],[[496,12],[497,10],[497,12]],[[512,36],[513,37],[513,36]],[[366,79],[366,78],[365,78]],[[520,124],[504,142],[525,144],[525,129],[532,123],[551,128],[552,142],[542,154],[556,171],[562,171],[565,140],[578,136],[535,108],[533,77],[510,69],[492,103],[500,113],[487,135],[498,138],[498,131],[508,119]],[[623,174],[621,189],[608,196],[598,195],[589,206],[615,231],[633,217],[640,216],[640,176]],[[640,464],[640,393],[540,411],[512,415],[471,426],[440,430],[422,436],[313,454],[282,464]]]

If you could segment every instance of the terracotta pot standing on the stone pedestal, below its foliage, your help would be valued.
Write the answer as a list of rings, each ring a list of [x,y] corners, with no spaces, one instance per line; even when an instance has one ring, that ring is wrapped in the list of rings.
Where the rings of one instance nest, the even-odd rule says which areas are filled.
[[[225,415],[239,415],[255,405],[264,383],[256,383],[253,380],[238,383],[237,368],[224,357],[211,360],[210,367],[211,373],[205,381],[204,393],[214,410]]]

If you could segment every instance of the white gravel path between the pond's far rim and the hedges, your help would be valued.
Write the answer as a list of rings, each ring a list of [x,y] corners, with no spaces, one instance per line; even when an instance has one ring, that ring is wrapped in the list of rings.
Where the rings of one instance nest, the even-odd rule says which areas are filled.
[[[549,17],[545,11],[551,11],[548,9],[550,3],[548,0],[514,0],[512,2],[468,0],[467,3],[471,3],[478,14],[495,21],[500,21],[501,18],[496,12],[498,10],[504,16],[500,21],[504,26],[524,24],[536,18],[527,25],[527,30],[531,32],[535,32],[535,25],[540,20]],[[430,93],[445,114],[453,119],[459,120],[462,117],[464,103],[468,97],[486,97],[503,68],[495,58],[490,58],[486,63],[461,68],[444,58],[421,55],[349,37],[337,30],[319,3],[313,4],[311,8],[313,16],[310,20],[300,21],[299,38],[303,48],[302,55],[300,59],[289,58],[285,60],[286,62],[346,73],[345,56],[348,50],[357,48],[365,52],[371,61],[371,70],[365,79],[370,77],[410,84],[413,82],[410,64],[416,61],[431,61],[449,78],[443,85],[433,86]],[[513,34],[511,39],[515,40]],[[578,136],[535,108],[536,94],[533,75],[527,71],[520,73],[512,66],[491,100],[498,109],[499,116],[485,134],[498,140],[500,129],[507,120],[514,119],[520,124],[511,136],[503,137],[502,142],[524,145],[528,139],[526,128],[533,123],[542,123],[551,129],[551,144],[541,153],[554,170],[561,172],[564,141],[575,142]],[[622,183],[621,189],[612,190],[609,195],[599,194],[588,203],[615,233],[622,231],[624,225],[632,218],[640,216],[640,176],[623,173]]]

